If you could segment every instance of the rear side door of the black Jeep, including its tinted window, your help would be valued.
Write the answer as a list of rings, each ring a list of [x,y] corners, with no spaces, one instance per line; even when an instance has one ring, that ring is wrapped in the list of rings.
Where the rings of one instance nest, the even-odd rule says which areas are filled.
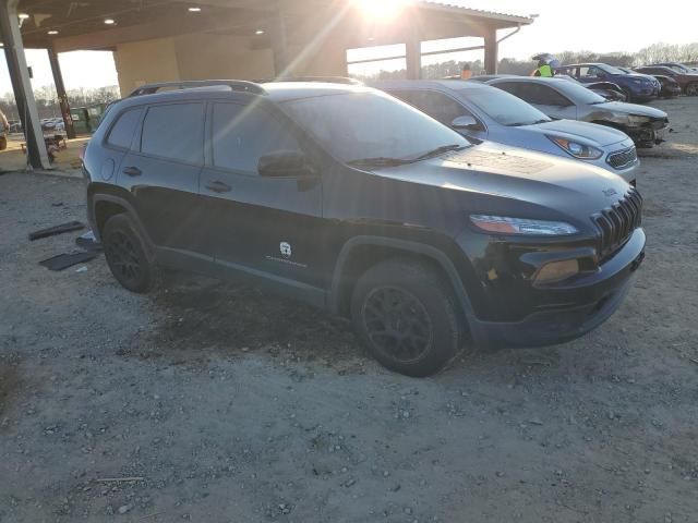
[[[156,246],[205,255],[198,175],[204,161],[205,105],[188,101],[145,108],[131,150],[118,171]]]

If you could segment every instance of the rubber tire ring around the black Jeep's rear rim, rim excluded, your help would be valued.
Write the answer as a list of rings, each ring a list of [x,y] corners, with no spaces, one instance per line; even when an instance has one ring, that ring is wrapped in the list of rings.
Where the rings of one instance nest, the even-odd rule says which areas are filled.
[[[109,241],[116,233],[125,235],[136,251],[136,256],[139,257],[142,267],[141,277],[136,280],[123,278],[123,276],[120,275],[112,265],[112,259],[110,259],[109,256]],[[124,289],[128,289],[131,292],[148,292],[154,287],[157,269],[155,267],[153,256],[149,254],[147,244],[134,221],[125,214],[112,216],[107,220],[101,236],[107,264],[109,265],[109,269],[117,281],[119,281]]]

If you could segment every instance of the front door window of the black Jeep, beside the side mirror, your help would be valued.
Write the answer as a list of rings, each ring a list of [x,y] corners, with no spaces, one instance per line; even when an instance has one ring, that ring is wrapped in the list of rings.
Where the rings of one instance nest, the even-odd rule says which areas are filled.
[[[214,166],[257,173],[262,156],[280,150],[300,151],[296,137],[263,109],[237,104],[213,108]]]

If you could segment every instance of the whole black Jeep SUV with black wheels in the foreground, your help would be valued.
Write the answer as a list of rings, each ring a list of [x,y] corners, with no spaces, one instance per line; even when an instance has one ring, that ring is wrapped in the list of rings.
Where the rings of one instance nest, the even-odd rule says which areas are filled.
[[[385,366],[539,345],[604,321],[643,257],[642,199],[579,162],[472,145],[377,90],[229,82],[132,96],[87,146],[119,282],[245,276],[351,318]]]

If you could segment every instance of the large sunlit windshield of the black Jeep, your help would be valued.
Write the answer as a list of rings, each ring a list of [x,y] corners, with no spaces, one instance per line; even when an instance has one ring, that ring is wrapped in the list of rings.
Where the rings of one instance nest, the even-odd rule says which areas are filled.
[[[335,158],[416,161],[467,147],[460,134],[393,97],[375,92],[290,100],[286,112]]]

